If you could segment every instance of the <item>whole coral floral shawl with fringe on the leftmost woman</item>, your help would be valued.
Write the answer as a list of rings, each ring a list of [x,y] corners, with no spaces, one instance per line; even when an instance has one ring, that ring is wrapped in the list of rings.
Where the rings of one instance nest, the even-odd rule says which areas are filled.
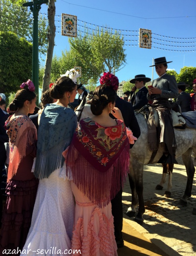
[[[10,119],[11,116],[5,122],[10,145],[8,180],[16,174],[22,158],[26,156],[26,145],[31,146],[37,140],[37,130],[28,116],[21,115]]]

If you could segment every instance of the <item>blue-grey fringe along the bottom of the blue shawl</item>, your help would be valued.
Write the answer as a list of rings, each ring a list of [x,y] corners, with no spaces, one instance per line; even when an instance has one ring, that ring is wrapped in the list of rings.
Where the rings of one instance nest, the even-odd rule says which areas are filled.
[[[58,146],[51,148],[48,152],[39,152],[37,150],[37,156],[35,161],[34,175],[39,180],[48,178],[50,174],[63,167],[64,158],[62,152],[71,143],[71,140],[63,140]]]

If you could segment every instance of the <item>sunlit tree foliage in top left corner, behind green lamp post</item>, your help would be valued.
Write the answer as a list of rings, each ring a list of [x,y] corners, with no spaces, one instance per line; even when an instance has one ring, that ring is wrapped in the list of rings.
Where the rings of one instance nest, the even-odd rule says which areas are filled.
[[[20,38],[33,42],[33,16],[24,0],[0,0],[0,31],[14,32]],[[47,50],[47,20],[39,14],[38,45],[40,54]]]

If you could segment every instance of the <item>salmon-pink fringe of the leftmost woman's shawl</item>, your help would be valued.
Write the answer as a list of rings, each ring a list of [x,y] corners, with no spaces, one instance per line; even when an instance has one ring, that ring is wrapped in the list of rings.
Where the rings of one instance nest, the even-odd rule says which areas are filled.
[[[33,124],[33,123],[32,123]],[[34,124],[33,124],[34,126]],[[31,146],[35,140],[37,140],[37,132],[36,128],[33,126],[27,127],[24,132],[22,132],[22,135],[20,136],[20,129],[17,134],[17,136],[20,136],[18,141],[16,141],[14,145],[14,149],[12,152],[10,152],[10,162],[8,166],[8,181],[17,173],[18,166],[20,165],[20,162],[22,159],[26,156],[26,146],[29,144]]]

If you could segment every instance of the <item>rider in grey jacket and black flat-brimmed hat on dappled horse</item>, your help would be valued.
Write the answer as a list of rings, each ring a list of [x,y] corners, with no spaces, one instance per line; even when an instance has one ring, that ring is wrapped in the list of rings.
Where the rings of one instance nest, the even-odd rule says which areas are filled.
[[[174,76],[166,74],[167,62],[165,57],[154,60],[155,70],[159,78],[153,80],[149,87],[148,99],[153,101],[152,107],[157,110],[160,119],[160,142],[165,143],[165,151],[158,163],[177,164],[175,159],[176,142],[172,125],[171,104],[169,98],[178,97],[178,86]],[[152,67],[150,66],[150,67]]]

